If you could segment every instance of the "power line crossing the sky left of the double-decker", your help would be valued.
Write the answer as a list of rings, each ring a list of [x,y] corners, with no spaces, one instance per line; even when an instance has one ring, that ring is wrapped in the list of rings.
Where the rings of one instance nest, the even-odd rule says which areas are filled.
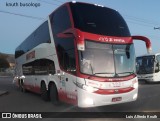
[[[37,20],[43,20],[44,19],[44,18],[40,18],[40,17],[28,16],[28,15],[18,14],[18,13],[12,13],[12,12],[3,11],[3,10],[0,10],[0,12],[1,13],[12,14],[12,15],[16,15],[16,16],[21,16],[21,17],[26,17],[26,18],[37,19]]]

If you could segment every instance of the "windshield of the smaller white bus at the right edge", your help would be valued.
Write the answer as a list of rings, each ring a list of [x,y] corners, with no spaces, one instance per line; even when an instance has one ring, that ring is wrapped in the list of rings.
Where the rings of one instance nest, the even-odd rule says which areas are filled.
[[[155,56],[143,56],[136,59],[137,74],[151,74],[154,73]]]

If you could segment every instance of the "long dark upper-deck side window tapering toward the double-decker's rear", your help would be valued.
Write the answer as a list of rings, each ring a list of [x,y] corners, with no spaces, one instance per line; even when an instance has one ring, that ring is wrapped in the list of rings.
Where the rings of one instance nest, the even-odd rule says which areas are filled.
[[[15,58],[23,55],[24,53],[30,51],[34,47],[42,43],[50,43],[50,35],[48,22],[44,22],[40,27],[38,27],[25,41],[16,49]]]

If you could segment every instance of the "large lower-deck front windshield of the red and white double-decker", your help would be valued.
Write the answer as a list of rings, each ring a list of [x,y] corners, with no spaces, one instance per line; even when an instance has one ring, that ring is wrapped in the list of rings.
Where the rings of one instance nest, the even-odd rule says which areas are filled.
[[[133,44],[118,45],[86,41],[79,51],[80,71],[99,77],[121,77],[135,73]]]

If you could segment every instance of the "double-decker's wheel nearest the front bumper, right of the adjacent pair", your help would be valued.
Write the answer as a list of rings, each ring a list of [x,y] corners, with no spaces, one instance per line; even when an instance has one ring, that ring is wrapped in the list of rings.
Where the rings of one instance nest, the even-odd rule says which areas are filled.
[[[50,100],[54,105],[58,105],[58,92],[57,92],[57,88],[56,85],[54,83],[52,83],[50,85]]]

